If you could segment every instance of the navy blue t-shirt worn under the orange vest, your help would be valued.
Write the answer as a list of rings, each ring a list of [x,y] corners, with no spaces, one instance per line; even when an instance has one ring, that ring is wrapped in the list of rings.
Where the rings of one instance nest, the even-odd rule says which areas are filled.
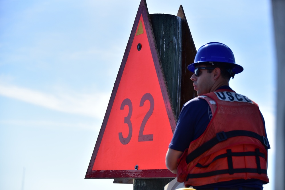
[[[218,89],[232,90],[229,86],[221,86]],[[201,98],[193,98],[192,100],[186,102],[183,105],[182,110],[180,111],[180,115],[176,124],[176,129],[168,147],[174,150],[184,152],[184,150],[189,147],[192,141],[194,141],[203,134],[211,119],[211,108],[206,100]],[[199,186],[199,188],[254,187],[257,189],[263,189],[262,184],[263,182],[258,179],[237,179],[203,185]]]

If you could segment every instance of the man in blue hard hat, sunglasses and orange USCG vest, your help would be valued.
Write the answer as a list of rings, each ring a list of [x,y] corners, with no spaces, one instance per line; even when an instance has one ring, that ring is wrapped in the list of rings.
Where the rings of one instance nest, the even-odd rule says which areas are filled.
[[[258,105],[229,87],[243,67],[225,44],[198,49],[194,63],[197,98],[184,104],[166,153],[166,166],[185,187],[263,189],[270,148]]]

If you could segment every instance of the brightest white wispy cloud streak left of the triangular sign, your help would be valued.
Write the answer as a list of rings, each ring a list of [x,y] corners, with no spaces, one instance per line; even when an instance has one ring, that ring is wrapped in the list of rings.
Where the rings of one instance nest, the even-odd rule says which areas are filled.
[[[66,113],[76,113],[103,119],[110,94],[57,92],[47,94],[19,86],[0,84],[0,95]]]

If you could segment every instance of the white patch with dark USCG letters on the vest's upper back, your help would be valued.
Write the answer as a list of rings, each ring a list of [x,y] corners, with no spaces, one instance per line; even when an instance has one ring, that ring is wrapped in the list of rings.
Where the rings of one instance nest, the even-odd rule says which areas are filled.
[[[235,92],[215,92],[216,96],[219,98],[219,100],[223,101],[229,101],[229,102],[247,102],[252,103],[251,99],[247,98],[244,95],[237,94]]]

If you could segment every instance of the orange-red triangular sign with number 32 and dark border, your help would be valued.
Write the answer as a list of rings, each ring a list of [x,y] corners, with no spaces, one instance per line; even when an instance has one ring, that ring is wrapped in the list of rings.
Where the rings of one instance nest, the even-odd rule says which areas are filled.
[[[165,166],[175,125],[142,0],[85,178],[175,177]]]

